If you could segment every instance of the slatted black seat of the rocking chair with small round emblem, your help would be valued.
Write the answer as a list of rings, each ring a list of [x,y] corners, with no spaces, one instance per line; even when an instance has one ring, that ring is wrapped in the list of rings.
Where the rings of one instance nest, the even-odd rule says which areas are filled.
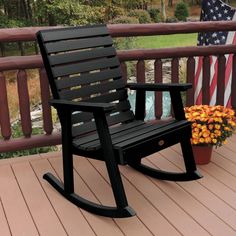
[[[145,157],[160,149],[178,143],[182,135],[191,134],[191,124],[186,120],[171,121],[165,124],[133,121],[110,128],[115,156],[120,164],[129,158]],[[187,132],[186,132],[187,131]],[[97,133],[88,134],[73,140],[78,151],[101,153]]]

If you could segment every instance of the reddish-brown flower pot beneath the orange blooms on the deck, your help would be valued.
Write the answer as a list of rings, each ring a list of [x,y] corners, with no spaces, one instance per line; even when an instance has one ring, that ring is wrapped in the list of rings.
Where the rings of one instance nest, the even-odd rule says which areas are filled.
[[[211,161],[212,146],[192,146],[197,165],[208,164]]]

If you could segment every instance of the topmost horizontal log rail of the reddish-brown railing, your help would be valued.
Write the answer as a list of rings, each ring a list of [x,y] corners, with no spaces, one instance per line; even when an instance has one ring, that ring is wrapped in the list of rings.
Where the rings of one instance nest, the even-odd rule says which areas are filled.
[[[0,29],[0,42],[33,41],[35,33],[50,27],[24,27]],[[166,35],[209,31],[236,31],[235,21],[183,22],[156,24],[108,25],[113,37]]]

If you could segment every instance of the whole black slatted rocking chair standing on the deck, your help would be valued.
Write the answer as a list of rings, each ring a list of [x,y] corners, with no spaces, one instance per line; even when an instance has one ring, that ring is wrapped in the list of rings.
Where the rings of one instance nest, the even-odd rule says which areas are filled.
[[[61,122],[64,183],[44,175],[57,191],[75,205],[98,215],[129,217],[118,164],[162,180],[201,178],[190,144],[191,124],[186,121],[181,91],[191,84],[126,84],[120,62],[105,25],[54,28],[38,32],[37,39]],[[127,88],[136,90],[131,111]],[[167,124],[144,121],[145,91],[169,91],[175,118]],[[186,171],[153,169],[141,159],[176,143],[181,144]],[[104,206],[74,192],[73,154],[105,161],[116,206]]]

